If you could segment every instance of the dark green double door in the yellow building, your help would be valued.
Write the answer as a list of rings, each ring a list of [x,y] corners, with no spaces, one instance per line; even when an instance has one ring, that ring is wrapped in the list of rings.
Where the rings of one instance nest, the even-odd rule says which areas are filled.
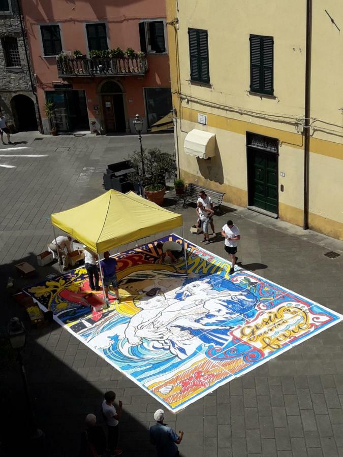
[[[277,140],[257,136],[248,137],[248,206],[277,215],[278,154],[277,143],[274,141]]]

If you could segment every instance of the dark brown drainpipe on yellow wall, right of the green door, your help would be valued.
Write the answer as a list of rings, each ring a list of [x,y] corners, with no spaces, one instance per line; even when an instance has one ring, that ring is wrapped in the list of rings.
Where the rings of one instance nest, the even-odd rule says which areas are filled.
[[[306,64],[305,64],[305,121],[304,121],[304,220],[303,230],[308,230],[309,192],[309,141],[311,113],[311,47],[312,47],[312,0],[306,0]]]

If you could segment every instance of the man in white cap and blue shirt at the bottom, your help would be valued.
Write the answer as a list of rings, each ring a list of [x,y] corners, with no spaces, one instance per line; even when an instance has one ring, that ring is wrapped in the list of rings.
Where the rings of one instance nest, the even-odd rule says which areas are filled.
[[[176,457],[179,455],[176,444],[181,443],[183,432],[177,435],[173,429],[163,423],[163,409],[155,411],[153,418],[157,423],[150,427],[150,442],[156,446],[158,457]]]

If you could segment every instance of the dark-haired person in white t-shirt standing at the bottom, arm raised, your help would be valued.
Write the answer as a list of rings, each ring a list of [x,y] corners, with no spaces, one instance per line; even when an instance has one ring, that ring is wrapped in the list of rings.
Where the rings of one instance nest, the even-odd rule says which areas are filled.
[[[121,416],[122,402],[119,400],[118,412],[113,406],[115,400],[115,393],[113,390],[109,390],[104,395],[105,400],[101,405],[103,416],[107,425],[107,447],[110,450],[110,456],[120,455],[121,449],[116,449],[118,443],[118,432],[119,432],[119,418]]]

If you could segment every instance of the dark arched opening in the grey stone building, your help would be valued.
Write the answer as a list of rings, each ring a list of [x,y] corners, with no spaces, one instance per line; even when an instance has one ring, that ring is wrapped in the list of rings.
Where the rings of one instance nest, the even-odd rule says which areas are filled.
[[[14,95],[11,108],[17,132],[38,130],[34,101],[27,95]]]

